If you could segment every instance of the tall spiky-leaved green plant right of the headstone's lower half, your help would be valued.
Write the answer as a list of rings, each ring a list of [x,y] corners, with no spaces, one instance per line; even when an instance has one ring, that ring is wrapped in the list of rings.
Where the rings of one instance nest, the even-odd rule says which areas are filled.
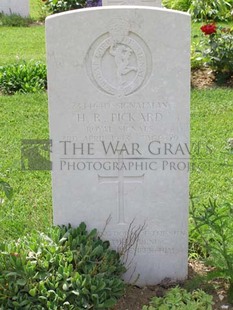
[[[202,240],[207,263],[215,267],[209,273],[209,279],[225,279],[229,283],[229,301],[233,302],[233,205],[209,200],[200,208],[192,200],[190,213],[194,233],[199,241]]]

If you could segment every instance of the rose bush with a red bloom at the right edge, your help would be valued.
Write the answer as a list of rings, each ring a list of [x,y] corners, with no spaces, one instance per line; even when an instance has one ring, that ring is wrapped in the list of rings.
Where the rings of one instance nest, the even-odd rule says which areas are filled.
[[[233,74],[233,28],[212,23],[203,25],[201,31],[205,35],[203,56],[207,65],[218,80],[226,80]]]

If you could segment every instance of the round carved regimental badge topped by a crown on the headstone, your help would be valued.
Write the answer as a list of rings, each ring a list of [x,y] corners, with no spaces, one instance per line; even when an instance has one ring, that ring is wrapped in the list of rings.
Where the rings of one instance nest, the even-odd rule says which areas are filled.
[[[112,20],[109,32],[91,45],[87,72],[95,86],[115,96],[127,96],[141,88],[151,74],[151,53],[146,43],[122,19]]]

